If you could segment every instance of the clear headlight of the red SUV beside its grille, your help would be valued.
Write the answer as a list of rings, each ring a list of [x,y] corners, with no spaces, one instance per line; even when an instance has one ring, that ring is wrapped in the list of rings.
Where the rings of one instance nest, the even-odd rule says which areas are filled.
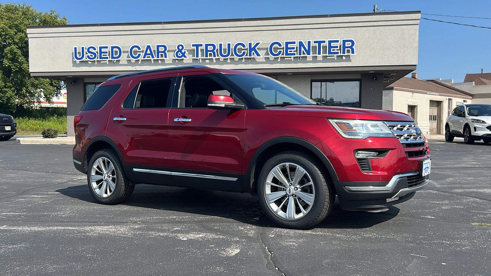
[[[391,137],[394,133],[382,121],[327,119],[344,138]]]

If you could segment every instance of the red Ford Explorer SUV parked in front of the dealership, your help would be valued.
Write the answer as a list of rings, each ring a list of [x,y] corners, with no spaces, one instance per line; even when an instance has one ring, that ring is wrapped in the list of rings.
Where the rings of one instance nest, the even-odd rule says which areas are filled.
[[[206,66],[102,83],[75,116],[75,167],[103,204],[136,184],[251,193],[289,228],[340,208],[382,212],[428,184],[428,142],[404,113],[327,107],[271,78]]]

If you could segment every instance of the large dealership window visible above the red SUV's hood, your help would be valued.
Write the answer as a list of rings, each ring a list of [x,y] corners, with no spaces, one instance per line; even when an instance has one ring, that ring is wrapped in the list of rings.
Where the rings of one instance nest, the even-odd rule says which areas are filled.
[[[326,106],[360,107],[359,81],[312,81],[310,98]]]

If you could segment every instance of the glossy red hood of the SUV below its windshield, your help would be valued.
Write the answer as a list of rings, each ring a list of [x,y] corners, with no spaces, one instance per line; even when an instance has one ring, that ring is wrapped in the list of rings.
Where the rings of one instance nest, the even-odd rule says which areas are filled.
[[[379,121],[414,121],[408,114],[387,110],[327,106],[286,106],[281,108],[271,108],[270,110],[274,115],[279,116],[325,117]]]

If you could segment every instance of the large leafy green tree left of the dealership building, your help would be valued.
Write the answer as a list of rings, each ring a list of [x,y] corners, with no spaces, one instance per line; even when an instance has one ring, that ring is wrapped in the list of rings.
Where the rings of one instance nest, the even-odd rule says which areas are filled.
[[[38,12],[31,5],[0,3],[0,112],[29,109],[34,101],[51,102],[62,83],[31,77],[27,26],[67,25],[55,10]]]

